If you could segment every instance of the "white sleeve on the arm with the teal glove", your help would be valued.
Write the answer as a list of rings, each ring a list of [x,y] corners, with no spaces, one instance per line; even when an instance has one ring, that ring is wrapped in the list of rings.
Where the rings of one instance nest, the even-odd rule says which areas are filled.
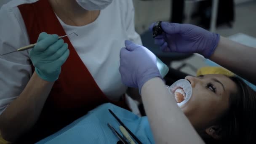
[[[0,54],[28,45],[24,21],[17,7],[0,8]],[[0,114],[20,95],[32,75],[28,51],[0,56]]]

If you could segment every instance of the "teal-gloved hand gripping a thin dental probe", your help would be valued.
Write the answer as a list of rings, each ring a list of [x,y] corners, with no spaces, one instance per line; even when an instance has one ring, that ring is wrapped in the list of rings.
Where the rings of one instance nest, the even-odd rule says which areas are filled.
[[[50,82],[59,78],[61,65],[69,56],[67,43],[58,38],[58,35],[42,32],[38,37],[37,45],[29,51],[29,58],[37,75]]]

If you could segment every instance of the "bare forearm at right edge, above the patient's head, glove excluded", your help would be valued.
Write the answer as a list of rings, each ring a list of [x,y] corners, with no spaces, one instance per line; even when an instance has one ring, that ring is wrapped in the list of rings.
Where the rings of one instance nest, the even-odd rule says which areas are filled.
[[[256,48],[221,37],[210,59],[256,84]]]

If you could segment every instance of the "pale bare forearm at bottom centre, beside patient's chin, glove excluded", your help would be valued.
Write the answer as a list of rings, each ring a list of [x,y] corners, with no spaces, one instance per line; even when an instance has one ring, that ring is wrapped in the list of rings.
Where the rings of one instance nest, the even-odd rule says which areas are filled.
[[[203,144],[187,117],[168,93],[163,80],[152,78],[141,89],[156,144]]]

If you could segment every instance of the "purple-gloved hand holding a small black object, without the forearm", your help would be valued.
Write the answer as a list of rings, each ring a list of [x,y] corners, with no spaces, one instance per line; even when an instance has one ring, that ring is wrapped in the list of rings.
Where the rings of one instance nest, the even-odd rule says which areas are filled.
[[[162,22],[161,26],[164,32],[155,37],[155,44],[165,52],[199,53],[209,58],[219,43],[219,34],[192,24]]]

